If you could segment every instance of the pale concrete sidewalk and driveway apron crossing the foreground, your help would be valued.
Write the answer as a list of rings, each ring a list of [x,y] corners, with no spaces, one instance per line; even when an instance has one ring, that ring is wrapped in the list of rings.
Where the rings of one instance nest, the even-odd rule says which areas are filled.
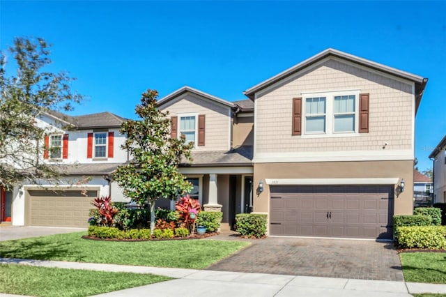
[[[88,269],[130,273],[153,273],[176,280],[115,291],[98,296],[410,296],[418,293],[446,294],[446,284],[418,284],[382,280],[270,275],[183,268],[123,266],[64,261],[1,259],[0,264]],[[8,296],[0,294],[0,296]]]

